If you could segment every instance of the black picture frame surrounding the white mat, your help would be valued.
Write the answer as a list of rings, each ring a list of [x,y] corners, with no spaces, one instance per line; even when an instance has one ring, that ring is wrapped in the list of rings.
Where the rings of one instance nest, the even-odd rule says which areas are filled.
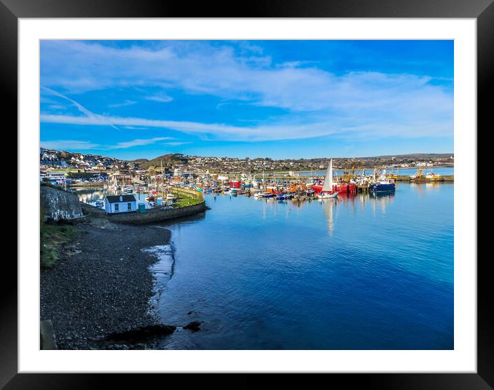
[[[10,128],[17,128],[17,23],[19,18],[61,17],[384,17],[477,19],[477,123],[491,130],[494,74],[493,0],[251,0],[242,2],[172,2],[163,0],[0,0],[0,94]],[[4,127],[5,128],[5,127]],[[475,131],[473,129],[472,131]],[[477,133],[478,134],[478,133]],[[15,142],[15,141],[14,141]],[[21,234],[21,232],[19,232]],[[492,389],[494,387],[494,320],[488,258],[477,260],[477,373],[330,374],[330,383],[366,389]],[[91,389],[103,385],[103,374],[17,373],[17,265],[3,258],[0,283],[0,388]],[[7,283],[10,280],[10,284]],[[229,387],[254,387],[257,376]],[[112,387],[143,386],[143,377],[112,375]],[[211,376],[201,378],[201,385]],[[291,380],[290,380],[291,381]],[[326,379],[324,380],[326,381]],[[305,386],[310,380],[304,379]],[[329,383],[329,382],[326,382]],[[188,382],[190,384],[190,382]]]

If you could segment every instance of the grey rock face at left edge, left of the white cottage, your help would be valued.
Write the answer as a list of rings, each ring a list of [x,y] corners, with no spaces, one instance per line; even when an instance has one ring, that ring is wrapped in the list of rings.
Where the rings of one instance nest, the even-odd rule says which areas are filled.
[[[68,220],[83,216],[79,198],[60,189],[42,185],[40,202],[45,220]]]

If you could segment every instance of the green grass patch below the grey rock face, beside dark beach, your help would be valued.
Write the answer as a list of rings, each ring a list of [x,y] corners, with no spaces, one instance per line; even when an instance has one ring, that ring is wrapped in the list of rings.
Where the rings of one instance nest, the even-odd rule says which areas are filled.
[[[46,223],[40,225],[40,265],[41,268],[52,268],[59,259],[62,244],[70,243],[77,234],[77,228],[61,223]]]

